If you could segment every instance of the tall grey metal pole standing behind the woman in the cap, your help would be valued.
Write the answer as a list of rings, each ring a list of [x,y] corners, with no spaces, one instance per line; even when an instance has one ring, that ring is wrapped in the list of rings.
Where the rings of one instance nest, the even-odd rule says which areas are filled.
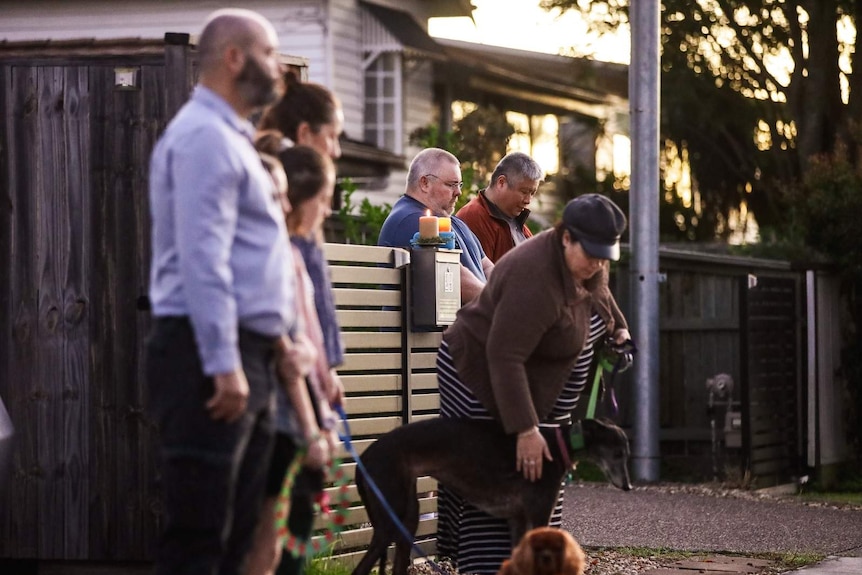
[[[633,463],[635,479],[655,482],[659,479],[659,0],[637,0],[630,6],[632,337],[640,348],[634,363]]]

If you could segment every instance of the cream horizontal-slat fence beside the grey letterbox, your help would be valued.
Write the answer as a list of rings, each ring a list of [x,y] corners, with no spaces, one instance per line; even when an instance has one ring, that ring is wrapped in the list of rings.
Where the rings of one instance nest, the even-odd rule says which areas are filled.
[[[399,267],[407,252],[398,248],[326,244],[332,267],[335,303],[346,347],[345,363],[338,370],[347,394],[346,412],[353,445],[358,453],[387,431],[436,415],[440,401],[435,362],[440,331],[413,332],[410,323],[409,268]],[[344,469],[354,477],[356,464],[349,454]],[[419,480],[418,491],[436,489],[431,478]],[[349,489],[351,508],[346,530],[335,552],[348,564],[358,561],[371,540],[368,516],[355,487]],[[333,496],[335,494],[333,493]],[[420,514],[436,510],[436,498],[420,501]],[[318,527],[323,525],[318,522]],[[436,519],[422,519],[417,534],[420,546],[433,551],[429,538]]]

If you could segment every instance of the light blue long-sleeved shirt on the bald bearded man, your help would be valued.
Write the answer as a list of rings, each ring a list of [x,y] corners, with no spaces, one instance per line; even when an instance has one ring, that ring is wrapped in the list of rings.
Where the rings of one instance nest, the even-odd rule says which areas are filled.
[[[296,318],[293,261],[253,126],[197,86],[150,160],[155,316],[188,316],[207,375],[241,367],[238,328],[278,337]]]

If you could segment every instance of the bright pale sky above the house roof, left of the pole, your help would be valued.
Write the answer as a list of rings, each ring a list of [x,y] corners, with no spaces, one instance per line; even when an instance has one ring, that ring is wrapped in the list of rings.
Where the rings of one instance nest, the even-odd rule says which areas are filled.
[[[558,54],[575,47],[579,55],[628,63],[628,34],[597,39],[587,35],[586,24],[574,12],[560,14],[539,7],[539,0],[472,0],[476,9],[469,18],[432,18],[432,36]]]

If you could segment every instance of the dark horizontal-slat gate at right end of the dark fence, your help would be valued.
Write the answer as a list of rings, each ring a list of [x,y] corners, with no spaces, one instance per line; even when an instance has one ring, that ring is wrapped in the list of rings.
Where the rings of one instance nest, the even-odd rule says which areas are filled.
[[[742,278],[742,465],[758,487],[788,483],[802,463],[801,286]]]

